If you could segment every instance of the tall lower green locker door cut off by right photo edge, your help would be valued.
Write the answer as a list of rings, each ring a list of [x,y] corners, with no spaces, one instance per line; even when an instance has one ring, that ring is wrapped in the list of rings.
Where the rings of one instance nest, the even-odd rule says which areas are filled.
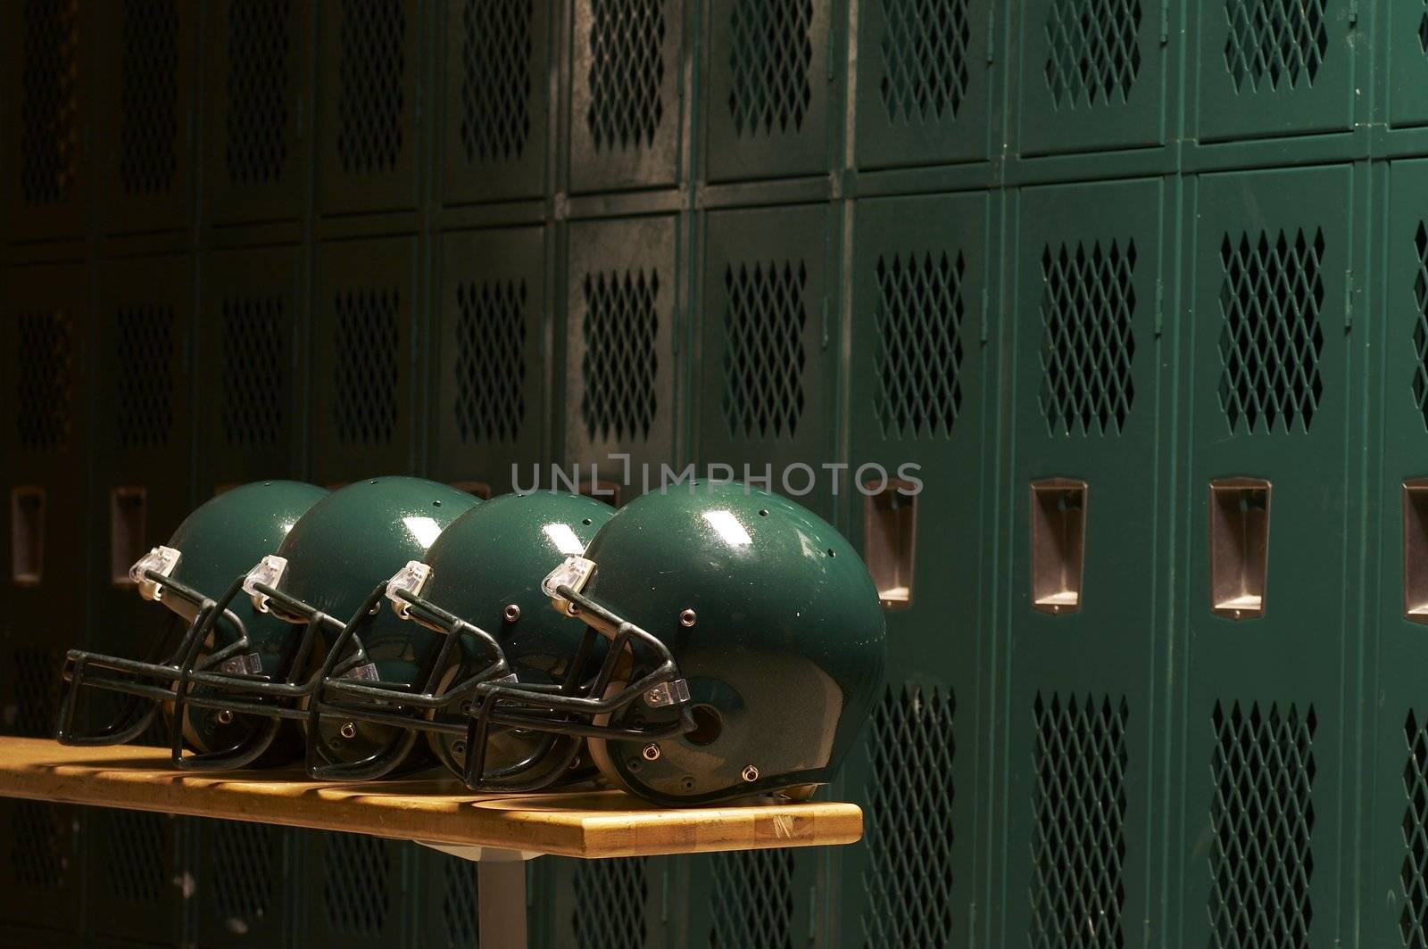
[[[1428,939],[1428,702],[1417,669],[1428,661],[1422,615],[1422,538],[1428,529],[1422,479],[1428,478],[1428,161],[1395,161],[1387,168],[1388,255],[1382,320],[1372,371],[1382,380],[1375,400],[1369,457],[1381,460],[1369,497],[1371,564],[1375,599],[1368,604],[1368,641],[1378,644],[1372,735],[1365,761],[1372,766],[1372,802],[1364,865],[1365,945],[1419,946]],[[1381,337],[1378,334],[1382,334]],[[1369,574],[1372,577],[1372,574]]]

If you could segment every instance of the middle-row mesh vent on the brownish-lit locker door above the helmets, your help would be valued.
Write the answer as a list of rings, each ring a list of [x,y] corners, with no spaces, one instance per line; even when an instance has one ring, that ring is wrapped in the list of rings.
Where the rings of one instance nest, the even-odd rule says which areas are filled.
[[[647,441],[658,395],[660,271],[585,274],[585,320],[580,361],[585,434],[603,441]]]

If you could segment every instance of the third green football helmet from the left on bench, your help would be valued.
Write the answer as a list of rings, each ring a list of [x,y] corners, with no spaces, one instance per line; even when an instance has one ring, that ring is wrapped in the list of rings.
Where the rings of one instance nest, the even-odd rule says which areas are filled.
[[[424,696],[427,722],[417,728],[456,773],[466,775],[467,718],[481,682],[504,678],[567,695],[581,685],[568,676],[581,665],[571,656],[584,625],[555,614],[540,584],[567,557],[584,554],[611,517],[610,505],[580,495],[508,494],[461,515],[423,562],[393,577],[387,588],[393,611],[450,644],[436,692]],[[353,689],[343,681],[331,686]],[[386,699],[396,705],[403,696]],[[351,705],[346,714],[360,716]],[[547,771],[551,779],[580,775],[588,765],[580,752],[578,738],[494,729],[468,782],[478,791],[513,791],[528,781],[544,785]],[[536,765],[538,771],[528,775]]]

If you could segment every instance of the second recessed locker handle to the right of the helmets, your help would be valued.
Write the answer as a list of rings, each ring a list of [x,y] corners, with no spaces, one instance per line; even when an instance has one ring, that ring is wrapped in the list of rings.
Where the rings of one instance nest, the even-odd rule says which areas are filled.
[[[1031,482],[1031,607],[1052,615],[1081,609],[1088,487],[1077,478]]]

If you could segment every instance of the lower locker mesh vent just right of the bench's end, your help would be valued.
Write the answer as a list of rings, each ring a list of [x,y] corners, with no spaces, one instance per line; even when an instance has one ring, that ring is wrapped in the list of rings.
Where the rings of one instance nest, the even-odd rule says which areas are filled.
[[[957,755],[951,692],[888,688],[868,731],[868,946],[948,946],[952,913],[952,803]]]

